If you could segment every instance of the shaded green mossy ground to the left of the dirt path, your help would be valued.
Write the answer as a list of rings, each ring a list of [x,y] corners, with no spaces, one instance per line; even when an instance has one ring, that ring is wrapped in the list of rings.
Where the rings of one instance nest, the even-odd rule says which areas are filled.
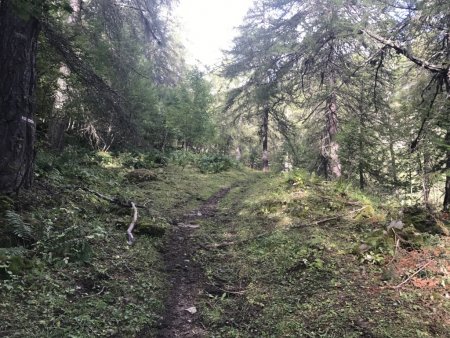
[[[35,241],[15,243],[31,262],[26,270],[12,269],[16,249],[2,249],[8,275],[0,280],[0,336],[155,336],[167,293],[164,230],[245,174],[169,165],[151,168],[156,177],[140,181],[128,179],[129,154],[68,149],[58,158],[39,156],[33,189],[8,205],[31,226]],[[144,206],[134,245],[125,236],[131,208],[82,188]]]

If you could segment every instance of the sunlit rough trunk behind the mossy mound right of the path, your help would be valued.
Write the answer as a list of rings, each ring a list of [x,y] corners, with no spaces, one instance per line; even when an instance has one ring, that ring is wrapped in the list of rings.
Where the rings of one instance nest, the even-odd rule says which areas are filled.
[[[325,111],[325,137],[322,145],[322,156],[325,159],[326,178],[336,179],[341,177],[341,163],[339,161],[339,144],[336,141],[338,130],[336,94],[331,94],[327,99]]]

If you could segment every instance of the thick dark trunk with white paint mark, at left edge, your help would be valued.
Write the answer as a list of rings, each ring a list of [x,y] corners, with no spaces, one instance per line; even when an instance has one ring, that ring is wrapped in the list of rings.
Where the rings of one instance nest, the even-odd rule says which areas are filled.
[[[39,22],[19,17],[12,1],[0,3],[0,192],[33,180],[35,86]]]

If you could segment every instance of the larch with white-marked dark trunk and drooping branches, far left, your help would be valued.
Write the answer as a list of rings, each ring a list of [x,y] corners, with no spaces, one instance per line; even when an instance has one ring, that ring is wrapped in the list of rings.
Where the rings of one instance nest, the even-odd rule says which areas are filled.
[[[161,13],[166,13],[170,4],[170,0],[95,0],[85,3],[86,6],[83,6],[81,1],[71,3],[63,0],[0,1],[1,193],[11,193],[18,191],[21,187],[29,187],[33,180],[36,58],[40,32],[43,31],[42,37],[46,40],[46,44],[59,56],[60,62],[55,66],[58,68],[61,64],[67,66],[71,76],[73,74],[76,81],[82,84],[83,91],[90,94],[85,96],[85,98],[89,97],[85,102],[90,100],[91,106],[97,108],[100,106],[99,103],[101,104],[102,109],[97,110],[104,112],[105,130],[111,130],[112,123],[115,123],[115,127],[123,128],[131,125],[129,115],[125,113],[127,100],[124,100],[123,95],[112,87],[111,84],[115,83],[111,81],[111,78],[105,79],[104,73],[99,71],[101,67],[91,65],[89,58],[84,57],[86,51],[83,48],[86,48],[88,43],[84,41],[77,46],[74,43],[75,35],[66,36],[65,26],[68,22],[67,20],[64,22],[62,18],[67,18],[67,15],[72,13],[69,21],[81,21],[86,18],[92,24],[95,18],[103,15],[105,24],[102,27],[107,31],[97,36],[108,37],[111,42],[110,48],[114,45],[112,43],[114,38],[119,35],[121,39],[117,45],[122,43],[125,31],[130,35],[145,35],[153,44],[151,48],[144,51],[143,56],[148,59],[154,58],[154,64],[159,64],[159,67],[152,68],[155,71],[152,74],[152,80],[157,78],[163,80],[166,74],[176,72],[176,67],[173,66],[174,69],[165,70],[170,67],[166,65],[166,61],[167,55],[171,53],[161,51],[166,43],[165,36],[168,34],[165,26],[167,22],[161,18],[163,16]],[[76,10],[74,11],[70,5],[73,5]],[[100,12],[102,9],[105,10],[103,13]],[[90,18],[87,18],[86,13],[91,15]],[[124,22],[132,22],[132,24],[125,25]],[[95,35],[93,31],[99,26],[93,24],[83,28],[84,33],[90,32]],[[116,33],[119,35],[115,35]],[[124,51],[121,48],[115,50]],[[112,51],[113,48],[109,50],[109,52]],[[155,55],[158,57],[156,58]],[[117,59],[126,58],[122,56]],[[139,72],[133,67],[134,65],[129,66],[134,72]],[[160,71],[161,69],[164,71]],[[58,102],[56,104],[58,105]],[[120,128],[117,129],[120,130]]]

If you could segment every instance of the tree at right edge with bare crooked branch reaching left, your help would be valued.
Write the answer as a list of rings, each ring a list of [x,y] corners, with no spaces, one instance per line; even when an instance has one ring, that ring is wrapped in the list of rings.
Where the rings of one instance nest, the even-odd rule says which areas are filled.
[[[422,69],[422,75],[428,80],[422,87],[422,98],[429,102],[429,109],[421,117],[421,125],[411,142],[411,151],[415,151],[427,129],[434,126],[445,131],[442,143],[446,148],[445,193],[443,209],[450,209],[450,4],[448,1],[395,1],[386,3],[383,12],[395,12],[396,20],[378,22],[380,32],[362,29],[361,33],[376,41],[384,48],[402,55],[411,64]],[[424,34],[420,34],[424,33]],[[386,35],[383,35],[386,34]],[[388,34],[388,35],[387,35]],[[425,97],[424,92],[433,90],[433,95]],[[440,109],[432,109],[442,96],[445,103]],[[428,155],[426,156],[428,157]],[[425,162],[428,162],[425,161]],[[424,189],[426,191],[427,189]],[[426,195],[426,192],[425,192]],[[425,198],[427,200],[427,198]]]

